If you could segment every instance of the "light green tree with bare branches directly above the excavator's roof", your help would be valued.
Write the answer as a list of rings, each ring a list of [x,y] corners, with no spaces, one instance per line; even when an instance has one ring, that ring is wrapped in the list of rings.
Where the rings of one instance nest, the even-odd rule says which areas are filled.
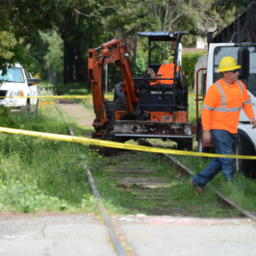
[[[115,3],[116,12],[108,16],[108,31],[123,38],[131,49],[138,31],[188,31],[187,46],[192,46],[195,36],[206,36],[214,23],[223,27],[234,15],[222,15],[212,8],[214,0],[129,0]]]

